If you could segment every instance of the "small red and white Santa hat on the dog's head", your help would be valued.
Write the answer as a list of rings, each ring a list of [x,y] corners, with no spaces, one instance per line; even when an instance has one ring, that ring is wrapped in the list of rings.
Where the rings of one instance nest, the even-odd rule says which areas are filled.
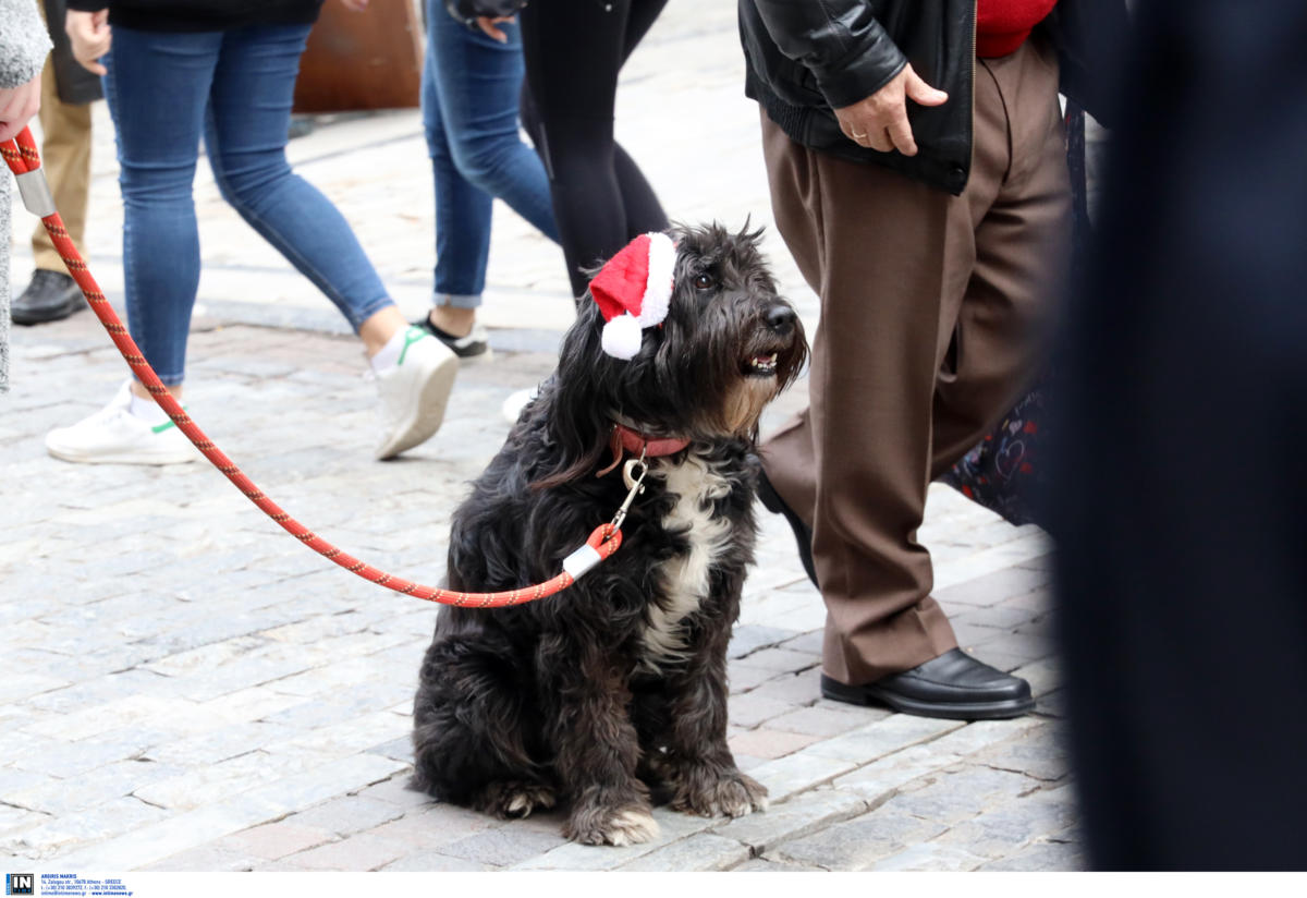
[[[589,294],[604,312],[604,352],[631,358],[640,350],[643,329],[661,324],[672,299],[676,244],[667,234],[640,234],[609,259],[589,282]]]

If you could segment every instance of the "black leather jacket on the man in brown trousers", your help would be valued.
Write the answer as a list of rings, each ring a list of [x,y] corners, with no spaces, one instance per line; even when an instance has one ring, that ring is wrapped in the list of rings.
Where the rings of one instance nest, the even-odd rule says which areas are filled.
[[[745,93],[793,140],[898,169],[961,193],[971,170],[975,0],[738,0]],[[1110,124],[1104,102],[1127,41],[1124,0],[1059,0],[1039,29],[1057,48],[1061,90]],[[880,90],[911,61],[942,106],[908,102],[918,154],[859,146],[833,108]]]

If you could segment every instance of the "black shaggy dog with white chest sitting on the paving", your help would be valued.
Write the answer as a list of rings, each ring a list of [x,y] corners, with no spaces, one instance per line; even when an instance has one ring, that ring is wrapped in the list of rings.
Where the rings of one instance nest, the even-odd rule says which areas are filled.
[[[677,229],[660,327],[622,361],[584,302],[558,370],[454,515],[448,583],[542,583],[626,498],[621,420],[689,446],[648,459],[622,545],[572,587],[503,609],[440,609],[414,702],[413,788],[501,817],[562,803],[588,844],[657,833],[651,799],[695,814],[766,807],[727,748],[725,656],[753,562],[754,439],[799,374],[801,324],[758,233]],[[630,457],[630,456],[627,456]]]

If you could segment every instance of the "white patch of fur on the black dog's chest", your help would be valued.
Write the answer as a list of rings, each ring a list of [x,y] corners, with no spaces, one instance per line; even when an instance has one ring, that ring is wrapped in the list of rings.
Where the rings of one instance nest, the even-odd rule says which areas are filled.
[[[731,540],[731,523],[714,516],[714,501],[731,491],[729,481],[714,472],[698,456],[689,456],[678,465],[660,467],[667,491],[676,505],[663,519],[669,531],[685,532],[689,552],[663,565],[663,605],[650,607],[644,630],[643,667],[657,669],[685,654],[685,622],[708,595],[708,573],[725,552]]]

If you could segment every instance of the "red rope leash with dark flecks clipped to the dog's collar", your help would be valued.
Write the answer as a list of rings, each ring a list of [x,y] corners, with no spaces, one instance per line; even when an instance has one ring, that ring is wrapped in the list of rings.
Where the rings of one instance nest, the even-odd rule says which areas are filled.
[[[282,529],[320,554],[323,558],[340,565],[352,574],[358,574],[365,580],[395,590],[405,596],[413,596],[414,599],[437,601],[443,605],[503,608],[506,605],[518,605],[520,603],[544,599],[566,590],[576,582],[576,576],[580,576],[593,563],[606,559],[617,552],[617,548],[622,544],[620,520],[616,523],[600,524],[589,535],[589,539],[586,540],[586,546],[588,546],[591,552],[586,552],[584,548],[579,549],[576,554],[583,556],[584,558],[578,566],[569,565],[569,567],[574,567],[574,570],[576,570],[575,575],[569,571],[563,571],[546,583],[524,587],[521,590],[508,590],[506,592],[456,592],[454,590],[437,590],[412,580],[405,580],[401,576],[387,574],[386,571],[378,570],[371,565],[358,561],[341,549],[337,549],[331,542],[322,539],[289,514],[282,511],[276,502],[269,499],[263,490],[255,486],[254,481],[246,477],[240,468],[238,468],[231,459],[223,455],[222,450],[213,444],[213,441],[204,435],[204,431],[200,430],[200,427],[190,418],[182,407],[178,405],[176,400],[173,399],[173,393],[167,391],[167,387],[165,387],[158,379],[158,375],[154,374],[154,369],[152,369],[149,362],[145,361],[145,357],[141,356],[140,348],[137,348],[136,341],[133,341],[131,335],[127,332],[127,328],[123,325],[122,320],[119,320],[116,312],[114,312],[114,307],[108,305],[108,301],[105,298],[103,291],[101,291],[99,285],[95,284],[95,278],[90,276],[90,272],[86,269],[86,263],[82,260],[77,247],[68,238],[68,230],[64,227],[64,221],[59,217],[59,213],[54,208],[54,201],[50,199],[50,188],[44,182],[44,174],[39,173],[41,154],[37,152],[37,144],[31,139],[31,132],[27,128],[24,128],[22,133],[20,133],[17,139],[0,144],[0,154],[4,156],[4,161],[9,165],[9,169],[18,179],[18,188],[22,193],[24,203],[30,210],[41,216],[42,224],[46,226],[46,230],[50,231],[50,237],[55,242],[55,248],[59,250],[59,256],[68,267],[68,273],[72,274],[74,281],[77,281],[77,286],[81,288],[82,294],[86,297],[86,302],[90,303],[91,311],[95,312],[95,318],[98,318],[101,324],[105,325],[105,329],[108,331],[108,336],[114,341],[114,345],[118,346],[118,352],[123,354],[123,358],[136,374],[137,379],[145,384],[145,388],[149,391],[150,396],[154,397],[154,401],[158,403],[159,408],[167,413],[178,429],[186,434],[187,439],[195,443],[195,447],[204,454],[204,457],[207,457],[214,468],[226,474],[227,480],[235,484],[238,490],[244,493],[246,498],[259,506],[259,508],[280,524]],[[627,498],[627,505],[633,497]]]

